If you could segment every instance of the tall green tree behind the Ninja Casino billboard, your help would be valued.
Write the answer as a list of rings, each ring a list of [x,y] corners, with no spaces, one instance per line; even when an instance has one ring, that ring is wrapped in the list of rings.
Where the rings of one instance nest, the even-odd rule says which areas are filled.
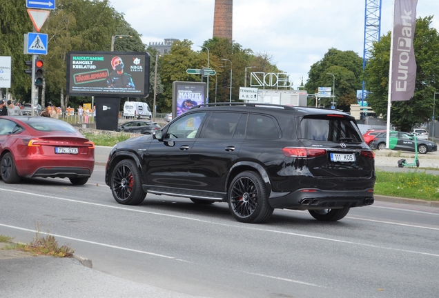
[[[140,35],[116,12],[107,0],[58,0],[43,27],[48,34],[46,83],[50,100],[65,110],[70,106],[66,95],[67,54],[72,50],[109,51],[113,35],[130,35],[115,41],[115,50],[144,52]],[[59,99],[55,99],[55,97]],[[73,97],[71,106],[90,102],[89,97]]]

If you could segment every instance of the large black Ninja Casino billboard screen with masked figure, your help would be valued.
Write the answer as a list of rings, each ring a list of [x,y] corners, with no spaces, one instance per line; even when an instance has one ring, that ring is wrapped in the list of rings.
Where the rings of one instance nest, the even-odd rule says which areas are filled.
[[[67,93],[71,96],[146,97],[147,52],[68,52]]]

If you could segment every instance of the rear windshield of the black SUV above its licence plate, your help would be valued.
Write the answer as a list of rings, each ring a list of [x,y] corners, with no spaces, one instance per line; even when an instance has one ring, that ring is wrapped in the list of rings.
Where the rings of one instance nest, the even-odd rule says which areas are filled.
[[[355,123],[340,118],[304,118],[300,123],[302,139],[318,141],[352,141],[362,142],[360,131]]]

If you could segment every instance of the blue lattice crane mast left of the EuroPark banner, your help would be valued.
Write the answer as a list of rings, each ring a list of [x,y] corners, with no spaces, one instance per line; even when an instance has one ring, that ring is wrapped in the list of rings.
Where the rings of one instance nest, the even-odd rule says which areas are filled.
[[[371,57],[373,41],[380,41],[381,31],[381,1],[366,0],[364,12],[364,50],[363,50],[363,70],[366,68],[367,61]],[[364,91],[364,81],[362,82],[361,106],[364,99],[367,99],[367,92]]]

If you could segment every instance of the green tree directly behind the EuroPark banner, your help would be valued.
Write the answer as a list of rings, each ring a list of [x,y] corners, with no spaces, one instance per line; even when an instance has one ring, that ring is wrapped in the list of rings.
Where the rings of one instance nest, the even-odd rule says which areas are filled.
[[[439,88],[439,34],[431,28],[433,17],[418,18],[413,39],[416,57],[416,87],[409,101],[391,103],[390,123],[398,130],[411,131],[416,123],[424,123],[433,115],[433,92]],[[387,119],[391,32],[373,44],[366,67],[368,102],[377,114]]]

